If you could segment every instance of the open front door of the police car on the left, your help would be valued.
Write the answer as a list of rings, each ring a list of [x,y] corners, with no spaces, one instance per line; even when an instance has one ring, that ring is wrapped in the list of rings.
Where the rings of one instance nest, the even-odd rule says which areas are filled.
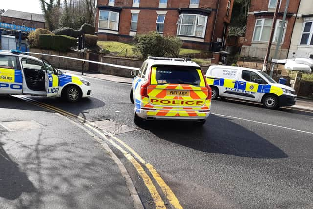
[[[59,76],[52,65],[43,60],[45,66],[45,89],[47,90],[47,97],[56,96],[59,92]]]

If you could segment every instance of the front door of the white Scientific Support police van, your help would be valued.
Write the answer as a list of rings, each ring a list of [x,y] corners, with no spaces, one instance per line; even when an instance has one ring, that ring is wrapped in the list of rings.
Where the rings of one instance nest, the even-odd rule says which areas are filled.
[[[242,70],[238,81],[238,90],[240,90],[238,98],[258,102],[262,96],[264,84],[267,84],[267,82],[257,73],[250,70]]]

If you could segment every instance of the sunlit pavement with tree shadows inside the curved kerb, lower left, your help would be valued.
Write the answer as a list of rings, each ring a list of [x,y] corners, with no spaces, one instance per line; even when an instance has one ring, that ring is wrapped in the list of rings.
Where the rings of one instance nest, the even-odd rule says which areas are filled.
[[[130,209],[117,164],[64,116],[0,97],[0,208]]]

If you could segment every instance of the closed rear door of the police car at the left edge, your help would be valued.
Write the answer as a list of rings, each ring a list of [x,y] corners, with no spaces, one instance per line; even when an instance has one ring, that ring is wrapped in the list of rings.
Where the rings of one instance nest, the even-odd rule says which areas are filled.
[[[0,94],[22,94],[23,76],[16,56],[0,55]]]

